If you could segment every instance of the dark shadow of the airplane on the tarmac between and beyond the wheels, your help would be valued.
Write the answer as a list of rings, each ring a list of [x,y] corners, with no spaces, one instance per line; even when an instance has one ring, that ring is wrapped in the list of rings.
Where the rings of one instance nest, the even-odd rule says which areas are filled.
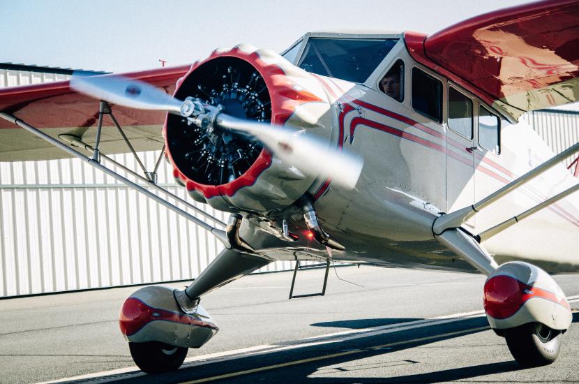
[[[336,322],[315,323],[321,327],[349,327],[359,329],[379,325],[391,325],[405,323],[407,318],[378,318],[362,320],[341,320]],[[573,323],[579,322],[579,313],[573,313]],[[489,364],[475,364],[469,367],[444,367],[441,370],[421,374],[400,375],[401,366],[412,367],[421,362],[412,360],[400,360],[393,357],[392,360],[382,359],[380,362],[368,363],[363,360],[368,357],[388,356],[389,353],[398,352],[421,346],[427,346],[438,341],[448,341],[455,338],[488,331],[488,321],[485,317],[466,318],[451,323],[428,325],[396,332],[374,334],[368,337],[360,337],[350,340],[340,340],[326,344],[317,344],[303,348],[289,350],[273,350],[258,355],[248,355],[233,360],[208,363],[203,365],[184,364],[179,371],[171,374],[158,375],[119,375],[105,376],[100,378],[107,383],[122,381],[123,383],[176,383],[195,381],[203,382],[203,379],[211,382],[275,382],[279,383],[440,383],[447,381],[465,380],[500,374],[509,371],[518,371],[521,367],[511,359],[511,355],[497,356],[497,360],[509,361],[493,362]],[[497,345],[504,343],[497,339]],[[288,341],[287,345],[295,344]],[[278,344],[283,345],[283,344]],[[452,348],[452,346],[451,346]],[[472,346],[476,348],[476,346]],[[434,353],[434,352],[433,352]],[[429,357],[430,358],[430,357]],[[432,356],[436,359],[436,355]],[[475,358],[473,357],[473,360]],[[446,368],[446,369],[445,369]],[[396,369],[398,376],[391,376]],[[379,377],[322,377],[324,374],[339,371],[356,372],[372,371],[371,376]],[[244,374],[239,374],[245,371]],[[409,369],[414,371],[414,369]],[[225,375],[225,377],[223,377]],[[318,377],[316,377],[319,375]],[[221,376],[220,379],[218,376]],[[94,379],[89,380],[93,382]],[[89,381],[86,381],[87,383]],[[80,381],[82,383],[83,381]]]

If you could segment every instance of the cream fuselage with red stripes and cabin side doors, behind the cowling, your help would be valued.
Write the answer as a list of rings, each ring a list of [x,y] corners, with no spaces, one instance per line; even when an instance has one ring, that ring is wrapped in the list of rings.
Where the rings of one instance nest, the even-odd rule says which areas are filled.
[[[397,101],[379,88],[379,81],[400,61],[404,97]],[[441,87],[439,116],[421,112],[424,108],[413,98],[419,71]],[[332,103],[327,112],[333,121],[332,142],[365,161],[353,191],[329,180],[310,189],[324,228],[347,246],[345,259],[462,269],[465,265],[435,241],[433,221],[472,205],[553,156],[527,124],[509,122],[492,105],[416,63],[402,39],[363,84],[316,78]],[[457,112],[457,98],[469,108]],[[476,214],[465,229],[479,233],[571,185],[573,178],[561,165]],[[499,261],[573,264],[578,218],[579,196],[571,195],[483,246]]]

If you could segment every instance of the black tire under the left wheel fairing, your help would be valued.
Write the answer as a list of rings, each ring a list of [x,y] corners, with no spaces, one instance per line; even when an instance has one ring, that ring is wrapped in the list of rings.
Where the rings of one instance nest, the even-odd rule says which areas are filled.
[[[176,371],[183,364],[188,349],[159,341],[129,343],[128,348],[137,367],[147,374]]]

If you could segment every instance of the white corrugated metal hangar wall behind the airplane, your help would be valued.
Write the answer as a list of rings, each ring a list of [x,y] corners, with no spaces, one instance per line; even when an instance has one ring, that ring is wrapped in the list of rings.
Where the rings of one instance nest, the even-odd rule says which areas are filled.
[[[0,87],[66,80],[72,72],[0,64]],[[542,110],[524,119],[555,152],[579,142],[579,112]],[[555,129],[564,133],[558,140]],[[139,155],[152,169],[159,152]],[[133,154],[112,158],[137,169]],[[158,184],[227,220],[188,199],[164,162]],[[222,247],[205,230],[80,160],[0,163],[0,297],[193,279]],[[291,268],[278,262],[257,272]]]

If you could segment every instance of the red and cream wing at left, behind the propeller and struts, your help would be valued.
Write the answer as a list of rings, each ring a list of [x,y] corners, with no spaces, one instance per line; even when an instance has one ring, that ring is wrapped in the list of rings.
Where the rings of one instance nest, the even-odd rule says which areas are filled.
[[[159,68],[126,74],[127,77],[148,82],[172,94],[179,77],[190,66]],[[57,138],[75,135],[93,144],[98,122],[99,101],[77,94],[68,81],[35,84],[0,90],[0,112],[40,128]],[[161,149],[161,126],[165,112],[133,110],[112,105],[112,113],[123,127],[136,151]],[[129,152],[109,117],[103,119],[100,149],[105,154]],[[24,129],[0,119],[0,161],[49,160],[68,157],[66,152],[30,135]]]

